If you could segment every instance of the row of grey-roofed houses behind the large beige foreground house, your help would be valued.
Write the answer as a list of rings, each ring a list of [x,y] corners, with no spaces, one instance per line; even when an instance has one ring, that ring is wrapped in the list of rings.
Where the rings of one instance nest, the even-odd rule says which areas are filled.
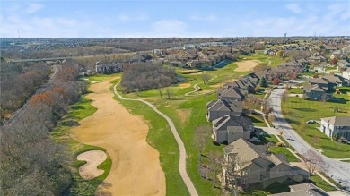
[[[243,99],[252,93],[260,78],[249,73],[241,80],[227,82],[218,90],[218,100],[207,103],[208,121],[213,124],[212,137],[218,143],[232,143],[240,138],[249,140],[254,125],[243,114]]]

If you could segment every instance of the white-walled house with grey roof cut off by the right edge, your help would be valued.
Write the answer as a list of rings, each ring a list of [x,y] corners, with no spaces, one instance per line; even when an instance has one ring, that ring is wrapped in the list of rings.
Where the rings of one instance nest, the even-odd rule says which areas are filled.
[[[328,137],[333,137],[338,133],[339,137],[350,139],[350,116],[321,118],[320,131]]]

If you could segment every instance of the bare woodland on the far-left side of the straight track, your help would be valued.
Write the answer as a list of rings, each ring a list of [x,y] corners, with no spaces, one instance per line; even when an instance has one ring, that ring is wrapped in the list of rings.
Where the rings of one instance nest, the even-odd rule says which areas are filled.
[[[32,93],[48,80],[50,68],[44,64],[2,62],[0,69],[0,123],[22,107]]]

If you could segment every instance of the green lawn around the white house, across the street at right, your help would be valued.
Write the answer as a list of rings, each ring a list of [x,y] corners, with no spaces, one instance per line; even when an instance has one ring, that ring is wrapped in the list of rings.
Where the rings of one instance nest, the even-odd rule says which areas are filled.
[[[302,138],[316,149],[322,149],[323,154],[329,158],[349,158],[350,145],[332,141],[327,135],[317,129],[319,124],[307,124],[304,129],[300,129],[300,124],[307,120],[317,120],[329,116],[349,116],[350,115],[350,87],[339,88],[347,94],[334,95],[337,102],[320,102],[303,100],[302,98],[289,98],[283,105],[284,117],[293,129]],[[334,113],[334,108],[338,107],[340,112]],[[316,139],[315,139],[316,138]]]

